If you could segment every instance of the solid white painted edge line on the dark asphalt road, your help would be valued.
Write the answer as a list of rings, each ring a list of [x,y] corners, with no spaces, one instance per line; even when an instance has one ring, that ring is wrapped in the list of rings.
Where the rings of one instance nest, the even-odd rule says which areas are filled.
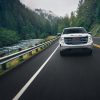
[[[53,51],[53,53],[49,56],[49,58],[43,63],[43,65],[38,69],[38,71],[29,79],[29,81],[23,86],[23,88],[17,93],[17,95],[12,99],[12,100],[18,100],[23,93],[27,90],[27,88],[30,86],[30,84],[35,80],[35,78],[39,75],[41,70],[45,67],[45,65],[49,62],[49,60],[52,58],[54,53],[57,51],[59,48],[59,45],[57,48]]]

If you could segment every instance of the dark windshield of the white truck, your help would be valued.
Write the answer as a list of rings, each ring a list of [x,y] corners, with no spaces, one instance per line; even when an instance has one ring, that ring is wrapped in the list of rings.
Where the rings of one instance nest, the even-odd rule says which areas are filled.
[[[64,29],[63,34],[87,33],[84,28]]]

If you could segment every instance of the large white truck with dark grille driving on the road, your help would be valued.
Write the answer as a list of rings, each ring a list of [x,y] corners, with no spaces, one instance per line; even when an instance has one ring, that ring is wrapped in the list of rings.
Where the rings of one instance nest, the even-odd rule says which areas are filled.
[[[93,39],[83,27],[69,27],[64,28],[59,39],[60,55],[63,56],[65,52],[87,51],[92,54]]]

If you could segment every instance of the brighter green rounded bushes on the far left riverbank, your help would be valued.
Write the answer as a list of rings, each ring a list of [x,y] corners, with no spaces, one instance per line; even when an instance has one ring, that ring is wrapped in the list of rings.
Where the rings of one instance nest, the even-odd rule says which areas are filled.
[[[17,43],[19,37],[15,31],[0,29],[0,47]]]

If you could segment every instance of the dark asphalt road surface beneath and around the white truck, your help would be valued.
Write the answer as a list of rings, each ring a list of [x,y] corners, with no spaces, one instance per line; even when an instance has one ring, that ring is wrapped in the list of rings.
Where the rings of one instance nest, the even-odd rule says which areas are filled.
[[[100,44],[100,38],[94,43]],[[0,100],[12,100],[57,46],[58,42],[0,77]],[[100,100],[100,48],[94,47],[92,56],[64,57],[58,48],[20,100]]]

